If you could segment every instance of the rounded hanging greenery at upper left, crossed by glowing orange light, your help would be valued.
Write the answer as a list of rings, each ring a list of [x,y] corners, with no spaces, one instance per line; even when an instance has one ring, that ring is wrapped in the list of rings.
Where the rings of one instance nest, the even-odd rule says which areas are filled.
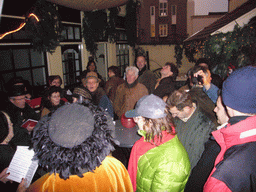
[[[39,18],[39,22],[29,17],[30,13],[34,13]],[[52,54],[60,44],[62,31],[61,19],[56,7],[44,0],[37,1],[26,16],[25,30],[35,50]]]

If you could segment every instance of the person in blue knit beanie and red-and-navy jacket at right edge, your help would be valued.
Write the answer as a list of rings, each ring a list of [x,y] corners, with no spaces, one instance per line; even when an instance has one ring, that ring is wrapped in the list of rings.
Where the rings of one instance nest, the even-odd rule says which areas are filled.
[[[204,191],[256,190],[256,68],[234,71],[223,83],[226,127],[212,132],[221,151]]]

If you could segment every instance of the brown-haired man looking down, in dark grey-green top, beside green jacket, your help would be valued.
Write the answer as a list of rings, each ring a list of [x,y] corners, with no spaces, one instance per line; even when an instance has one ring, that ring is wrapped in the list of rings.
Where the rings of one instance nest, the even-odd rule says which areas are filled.
[[[216,119],[211,120],[188,92],[174,91],[167,99],[167,104],[174,118],[177,135],[188,152],[193,169],[204,151],[204,144],[210,133],[217,127]]]

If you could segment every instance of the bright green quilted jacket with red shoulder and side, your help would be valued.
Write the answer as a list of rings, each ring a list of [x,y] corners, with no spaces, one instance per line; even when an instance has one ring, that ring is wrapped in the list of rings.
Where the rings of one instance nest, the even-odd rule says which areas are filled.
[[[131,151],[128,172],[134,191],[183,191],[190,173],[187,152],[177,136],[163,131],[155,146],[138,140]]]

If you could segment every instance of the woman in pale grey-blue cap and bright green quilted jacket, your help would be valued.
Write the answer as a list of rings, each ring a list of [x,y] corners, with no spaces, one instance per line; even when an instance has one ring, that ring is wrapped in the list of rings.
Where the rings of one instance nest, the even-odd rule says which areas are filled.
[[[190,163],[166,103],[147,95],[125,116],[134,118],[142,135],[132,148],[128,164],[134,191],[183,191]]]

